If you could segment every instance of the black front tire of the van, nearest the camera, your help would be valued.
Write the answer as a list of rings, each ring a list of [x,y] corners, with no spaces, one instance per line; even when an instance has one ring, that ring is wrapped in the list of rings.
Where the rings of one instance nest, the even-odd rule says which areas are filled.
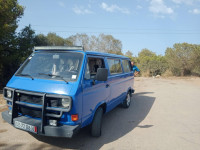
[[[102,124],[103,109],[99,107],[95,112],[92,124],[91,124],[91,135],[93,137],[101,136],[101,124]]]

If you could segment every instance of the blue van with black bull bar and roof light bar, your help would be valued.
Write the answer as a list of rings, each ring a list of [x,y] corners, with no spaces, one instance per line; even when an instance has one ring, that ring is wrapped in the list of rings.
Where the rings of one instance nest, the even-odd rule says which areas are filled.
[[[14,127],[45,136],[72,137],[90,125],[101,135],[103,114],[131,103],[134,75],[124,56],[82,47],[35,47],[3,90]]]

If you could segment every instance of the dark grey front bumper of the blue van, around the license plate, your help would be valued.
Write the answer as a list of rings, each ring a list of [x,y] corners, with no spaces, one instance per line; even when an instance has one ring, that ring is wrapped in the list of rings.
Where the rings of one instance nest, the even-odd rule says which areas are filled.
[[[8,122],[9,124],[12,124],[12,116],[8,113],[8,111],[2,112],[2,118]],[[70,126],[70,125],[62,125],[62,126],[50,126],[46,125],[43,127],[43,130],[41,130],[41,120],[36,120],[32,118],[28,118],[25,116],[16,117],[13,119],[14,121],[20,121],[32,126],[37,126],[38,135],[44,135],[44,136],[53,136],[53,137],[68,137],[71,138],[75,133],[77,133],[80,129],[80,125]]]

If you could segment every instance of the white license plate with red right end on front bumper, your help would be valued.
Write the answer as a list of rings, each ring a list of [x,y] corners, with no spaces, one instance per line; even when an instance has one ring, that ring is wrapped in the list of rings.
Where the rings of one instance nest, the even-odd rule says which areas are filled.
[[[37,133],[37,127],[36,126],[32,126],[32,125],[29,125],[29,124],[26,124],[26,123],[23,123],[23,122],[20,122],[20,121],[15,121],[14,126],[16,128],[22,129],[22,130]]]

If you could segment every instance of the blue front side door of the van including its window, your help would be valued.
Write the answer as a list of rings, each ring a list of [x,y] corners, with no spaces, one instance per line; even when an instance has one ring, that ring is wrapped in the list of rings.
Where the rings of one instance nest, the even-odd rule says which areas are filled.
[[[107,101],[110,87],[107,81],[94,81],[98,68],[105,68],[103,57],[88,56],[87,66],[83,80],[83,122],[90,119],[96,106],[102,101]],[[86,121],[87,122],[87,121]]]

